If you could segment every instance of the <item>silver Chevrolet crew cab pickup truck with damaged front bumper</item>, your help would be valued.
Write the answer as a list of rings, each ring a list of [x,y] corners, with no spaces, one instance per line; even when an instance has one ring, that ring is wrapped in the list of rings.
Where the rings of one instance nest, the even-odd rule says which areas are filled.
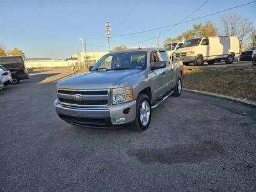
[[[109,52],[90,72],[57,84],[54,107],[62,120],[85,127],[124,127],[144,131],[152,109],[182,91],[182,61],[172,63],[165,49]]]

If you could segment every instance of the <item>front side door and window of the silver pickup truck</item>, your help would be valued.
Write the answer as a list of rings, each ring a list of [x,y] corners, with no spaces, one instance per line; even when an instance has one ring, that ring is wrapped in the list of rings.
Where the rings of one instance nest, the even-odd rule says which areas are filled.
[[[152,51],[150,53],[150,65],[153,65],[156,61],[162,61],[158,51]],[[165,68],[157,68],[150,72],[150,79],[153,88],[154,98],[166,93],[166,76]]]

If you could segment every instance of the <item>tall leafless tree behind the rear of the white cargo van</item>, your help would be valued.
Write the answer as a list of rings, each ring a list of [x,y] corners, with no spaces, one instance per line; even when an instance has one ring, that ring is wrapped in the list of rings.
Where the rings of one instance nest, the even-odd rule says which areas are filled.
[[[248,17],[228,14],[221,16],[221,27],[224,35],[237,36],[241,49],[241,46],[252,31],[252,22]]]

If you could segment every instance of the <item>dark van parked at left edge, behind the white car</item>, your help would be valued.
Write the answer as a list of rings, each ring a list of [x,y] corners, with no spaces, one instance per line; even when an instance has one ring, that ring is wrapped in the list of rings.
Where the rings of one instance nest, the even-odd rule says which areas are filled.
[[[0,65],[10,70],[13,79],[12,84],[18,84],[20,80],[29,79],[22,56],[0,57]]]

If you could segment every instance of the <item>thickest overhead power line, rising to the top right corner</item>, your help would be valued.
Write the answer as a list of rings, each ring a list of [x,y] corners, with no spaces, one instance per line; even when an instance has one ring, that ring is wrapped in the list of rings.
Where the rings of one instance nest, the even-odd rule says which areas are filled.
[[[150,31],[156,31],[158,29],[164,29],[164,28],[170,28],[172,26],[177,26],[177,25],[180,25],[180,24],[184,24],[186,22],[191,22],[193,20],[198,20],[198,19],[202,19],[204,17],[209,17],[211,15],[216,15],[218,13],[222,13],[222,12],[227,12],[229,10],[233,10],[235,8],[239,8],[241,6],[246,6],[248,4],[252,4],[252,3],[255,3],[256,1],[252,1],[252,2],[249,2],[249,3],[244,3],[244,4],[240,4],[238,6],[234,6],[234,7],[231,7],[231,8],[228,8],[228,9],[225,9],[225,10],[221,10],[221,11],[218,11],[218,12],[214,12],[214,13],[210,13],[208,15],[203,15],[203,16],[200,16],[200,17],[196,17],[194,19],[189,19],[189,20],[184,20],[182,22],[177,22],[176,24],[171,24],[171,25],[168,25],[168,26],[163,26],[163,27],[159,27],[159,28],[153,28],[153,29],[148,29],[148,30],[145,30],[145,31],[138,31],[138,32],[134,32],[134,33],[127,33],[127,34],[123,34],[123,35],[116,35],[116,36],[112,36],[111,38],[117,38],[117,37],[121,37],[121,36],[129,36],[129,35],[137,35],[137,34],[140,34],[140,33],[147,33],[147,32],[150,32]],[[105,36],[102,36],[102,37],[90,37],[88,39],[100,39],[100,38],[106,38]]]

